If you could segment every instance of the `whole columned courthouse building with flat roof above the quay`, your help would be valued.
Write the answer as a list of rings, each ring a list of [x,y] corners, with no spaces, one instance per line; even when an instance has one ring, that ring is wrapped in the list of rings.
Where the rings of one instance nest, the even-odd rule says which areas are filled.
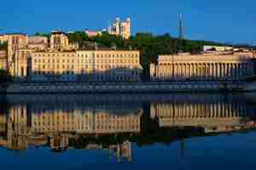
[[[244,81],[253,74],[253,54],[159,55],[151,81]]]

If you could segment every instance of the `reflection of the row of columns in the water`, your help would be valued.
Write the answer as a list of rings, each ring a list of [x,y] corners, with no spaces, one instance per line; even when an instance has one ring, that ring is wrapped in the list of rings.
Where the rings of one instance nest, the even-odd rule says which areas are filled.
[[[236,102],[220,103],[152,103],[150,105],[151,117],[164,118],[232,118],[244,117],[247,113],[246,105],[239,105]]]

